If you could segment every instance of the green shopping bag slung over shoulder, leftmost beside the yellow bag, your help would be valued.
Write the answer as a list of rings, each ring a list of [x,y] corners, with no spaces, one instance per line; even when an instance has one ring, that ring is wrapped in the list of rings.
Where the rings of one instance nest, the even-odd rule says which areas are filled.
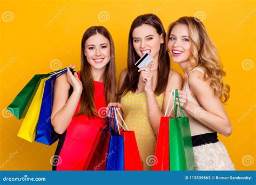
[[[16,96],[14,101],[7,107],[7,109],[14,114],[14,116],[18,119],[22,119],[25,117],[26,112],[28,112],[29,106],[32,102],[33,97],[36,94],[37,88],[41,83],[43,78],[51,76],[51,74],[55,74],[57,72],[61,72],[65,70],[58,70],[48,74],[36,74],[33,78],[29,81],[28,84],[22,89],[21,92]]]

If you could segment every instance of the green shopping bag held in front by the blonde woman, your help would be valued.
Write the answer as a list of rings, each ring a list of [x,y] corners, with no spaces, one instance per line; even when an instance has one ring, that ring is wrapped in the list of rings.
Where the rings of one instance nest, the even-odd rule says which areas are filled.
[[[173,118],[169,119],[170,170],[195,170],[190,123],[180,107],[180,102],[181,117],[177,118],[176,98],[179,102],[178,90],[174,92]]]

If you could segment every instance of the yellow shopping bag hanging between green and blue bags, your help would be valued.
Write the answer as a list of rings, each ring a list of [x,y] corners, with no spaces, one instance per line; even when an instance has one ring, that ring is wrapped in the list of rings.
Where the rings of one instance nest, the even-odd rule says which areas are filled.
[[[27,141],[33,142],[36,137],[36,127],[39,119],[43,94],[44,94],[44,85],[45,81],[51,77],[44,78],[41,80],[39,87],[36,91],[35,97],[33,98],[28,112],[22,122],[21,128],[19,129],[18,136]]]

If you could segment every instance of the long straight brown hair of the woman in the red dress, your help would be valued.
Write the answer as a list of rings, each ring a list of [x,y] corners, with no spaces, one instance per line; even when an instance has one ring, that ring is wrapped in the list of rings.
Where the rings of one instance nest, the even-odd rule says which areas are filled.
[[[91,65],[86,59],[84,54],[84,47],[86,40],[96,35],[97,33],[106,37],[110,42],[110,54],[109,63],[106,64],[104,72],[104,93],[105,93],[105,102],[116,101],[116,61],[114,56],[114,43],[110,35],[110,32],[107,31],[103,26],[92,26],[84,32],[82,43],[81,43],[81,71],[80,71],[80,80],[83,84],[83,91],[80,98],[80,108],[76,116],[81,114],[87,114],[88,117],[94,117],[99,115],[94,103],[94,91],[95,86],[93,84],[93,77],[91,72]]]

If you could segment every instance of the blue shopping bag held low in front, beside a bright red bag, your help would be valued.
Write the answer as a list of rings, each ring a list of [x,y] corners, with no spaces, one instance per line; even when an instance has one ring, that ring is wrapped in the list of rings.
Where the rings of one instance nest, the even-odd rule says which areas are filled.
[[[120,135],[119,129],[117,132],[117,123],[113,108],[110,107],[110,119],[113,120],[114,131],[111,132],[110,136],[106,170],[124,170],[124,137]]]

